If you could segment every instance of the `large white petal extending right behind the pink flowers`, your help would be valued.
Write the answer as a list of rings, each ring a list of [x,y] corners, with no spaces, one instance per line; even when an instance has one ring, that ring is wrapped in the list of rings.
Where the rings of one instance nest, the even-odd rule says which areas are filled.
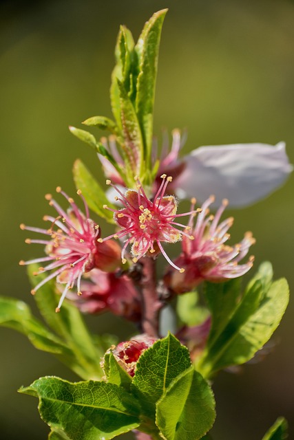
[[[176,184],[187,197],[204,201],[213,194],[216,196],[216,205],[227,198],[230,206],[235,207],[263,199],[281,186],[293,170],[284,142],[275,146],[200,146],[184,160],[187,168]]]

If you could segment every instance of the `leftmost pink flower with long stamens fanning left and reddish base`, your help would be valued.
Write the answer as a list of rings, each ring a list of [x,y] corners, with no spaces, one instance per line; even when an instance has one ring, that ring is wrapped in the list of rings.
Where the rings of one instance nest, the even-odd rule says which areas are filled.
[[[56,311],[60,310],[63,299],[67,291],[77,286],[78,294],[81,294],[81,277],[83,274],[90,272],[94,267],[103,270],[114,270],[118,266],[118,255],[120,248],[114,241],[109,243],[98,243],[100,236],[100,228],[89,217],[89,210],[81,191],[78,190],[78,195],[83,199],[85,205],[85,215],[78,209],[76,203],[71,197],[68,197],[60,187],[56,188],[57,192],[67,199],[70,203],[70,209],[65,212],[59,204],[52,199],[52,195],[46,195],[45,198],[49,200],[50,206],[56,209],[59,214],[58,217],[45,216],[45,221],[50,221],[50,229],[32,228],[21,224],[22,230],[29,230],[32,232],[39,232],[50,237],[48,240],[44,239],[27,239],[26,243],[39,243],[45,245],[45,253],[39,259],[30,261],[20,261],[21,265],[29,265],[33,263],[49,263],[45,267],[39,267],[40,272],[53,272],[43,279],[34,289],[32,294],[50,281],[56,278],[57,283],[65,284],[65,289],[61,295]],[[54,226],[57,227],[54,230]],[[105,246],[106,245],[106,246]]]

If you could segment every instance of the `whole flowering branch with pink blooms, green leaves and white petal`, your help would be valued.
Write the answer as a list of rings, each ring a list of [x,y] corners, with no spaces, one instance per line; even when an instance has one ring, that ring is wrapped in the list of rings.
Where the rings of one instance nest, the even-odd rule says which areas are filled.
[[[46,393],[48,399],[56,397],[57,389],[59,405],[50,404],[49,411],[39,405],[52,428],[49,437],[104,439],[130,430],[138,440],[207,437],[215,401],[206,380],[220,369],[250,360],[269,340],[288,302],[286,282],[271,284],[269,263],[244,294],[241,283],[219,284],[251,269],[253,256],[247,254],[255,243],[246,232],[240,243],[229,245],[233,217],[222,219],[222,214],[229,201],[232,207],[248,206],[284,183],[292,170],[284,142],[202,146],[181,156],[185,136],[178,129],[172,132],[170,147],[166,133],[161,148],[153,138],[158,48],[166,12],[156,12],[145,23],[138,43],[120,27],[110,89],[114,119],[94,116],[83,122],[111,135],[98,141],[92,133],[70,127],[98,154],[110,188],[105,191],[77,160],[73,171],[76,186],[83,188],[83,194],[77,191],[83,208],[58,187],[68,208],[46,195],[56,212],[43,217],[48,228],[21,224],[21,230],[45,236],[25,240],[43,245],[45,252],[20,261],[33,265],[32,273],[39,275],[31,292],[50,282],[43,294],[50,302],[59,294],[54,307],[61,313],[53,317],[54,307],[40,307],[48,326],[54,327],[51,333],[30,318],[29,309],[8,298],[3,301],[2,324],[11,327],[14,322],[12,327],[27,333],[37,348],[57,355],[83,379],[70,384],[43,377],[21,388],[22,393],[39,395],[40,401]],[[114,203],[110,193],[115,193]],[[188,212],[179,212],[180,199],[190,199]],[[102,222],[97,220],[102,228],[90,217],[89,206],[102,217]],[[187,221],[182,223],[182,217]],[[105,233],[105,220],[114,230]],[[161,276],[160,255],[166,265]],[[41,267],[36,270],[35,265]],[[198,294],[201,283],[204,288]],[[67,300],[72,302],[71,313]],[[79,311],[125,318],[138,335],[112,345],[100,364],[109,340],[116,338],[92,337]],[[23,325],[22,312],[30,318],[28,325]]]

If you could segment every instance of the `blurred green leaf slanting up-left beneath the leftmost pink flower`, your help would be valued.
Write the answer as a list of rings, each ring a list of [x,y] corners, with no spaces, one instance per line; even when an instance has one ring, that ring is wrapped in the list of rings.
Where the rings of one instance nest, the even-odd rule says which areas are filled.
[[[35,271],[36,266],[30,265],[28,274],[32,287],[45,277],[42,273],[34,276]],[[104,349],[99,349],[94,343],[76,305],[65,300],[61,311],[55,312],[59,296],[55,293],[54,281],[45,283],[34,298],[45,322],[62,338],[63,344],[71,353],[70,358],[61,356],[60,359],[83,379],[100,379],[103,375],[100,361]]]

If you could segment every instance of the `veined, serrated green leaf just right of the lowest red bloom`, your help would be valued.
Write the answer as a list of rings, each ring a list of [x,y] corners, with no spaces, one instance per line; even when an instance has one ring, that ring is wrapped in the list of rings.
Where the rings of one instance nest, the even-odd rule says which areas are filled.
[[[156,401],[171,381],[189,366],[191,360],[187,347],[171,334],[140,355],[131,389],[147,416],[154,418]]]

